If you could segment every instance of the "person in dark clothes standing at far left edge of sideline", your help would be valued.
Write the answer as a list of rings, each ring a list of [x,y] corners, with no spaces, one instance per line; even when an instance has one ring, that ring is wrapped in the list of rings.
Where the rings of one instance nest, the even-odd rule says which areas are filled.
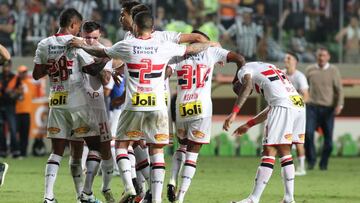
[[[13,158],[20,156],[18,139],[16,137],[15,104],[19,96],[16,92],[6,91],[6,87],[15,74],[11,72],[11,61],[5,61],[0,73],[0,157],[7,156],[7,141],[4,131],[5,123],[10,131],[10,151]]]

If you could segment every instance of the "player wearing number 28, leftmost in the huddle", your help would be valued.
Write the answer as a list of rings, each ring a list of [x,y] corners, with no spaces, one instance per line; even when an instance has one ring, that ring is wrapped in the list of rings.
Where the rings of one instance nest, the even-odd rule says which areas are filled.
[[[56,175],[70,136],[84,137],[90,150],[99,153],[98,124],[86,99],[84,73],[96,75],[109,61],[93,57],[81,49],[67,46],[79,33],[82,16],[75,9],[66,9],[60,15],[57,34],[41,40],[34,57],[33,77],[38,80],[49,75],[49,117],[47,136],[52,153],[45,169],[44,203],[56,202],[53,188]]]

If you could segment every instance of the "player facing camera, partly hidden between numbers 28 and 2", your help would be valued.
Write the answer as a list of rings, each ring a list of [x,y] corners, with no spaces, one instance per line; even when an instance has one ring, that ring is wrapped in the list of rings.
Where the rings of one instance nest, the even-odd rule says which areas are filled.
[[[100,24],[94,21],[87,21],[82,25],[81,36],[85,39],[85,42],[89,45],[104,47],[99,43],[101,37]],[[90,108],[94,111],[99,127],[100,135],[100,154],[97,151],[90,150],[87,153],[86,158],[86,178],[84,186],[82,187],[79,179],[81,178],[81,157],[83,149],[82,139],[71,140],[71,147],[74,149],[70,158],[71,172],[73,173],[73,179],[75,185],[77,185],[77,191],[81,191],[80,200],[82,202],[95,202],[96,199],[92,192],[92,185],[94,177],[98,171],[99,164],[102,171],[102,194],[104,195],[107,202],[115,202],[115,199],[110,190],[110,181],[113,174],[113,159],[111,154],[110,141],[112,140],[110,125],[108,122],[108,116],[105,107],[104,89],[103,85],[106,85],[111,78],[112,71],[112,60],[110,60],[102,71],[96,76],[86,75],[85,77],[85,89],[86,98],[90,105]],[[74,158],[76,156],[76,158]],[[101,163],[100,163],[101,159]],[[75,163],[73,163],[75,162]]]

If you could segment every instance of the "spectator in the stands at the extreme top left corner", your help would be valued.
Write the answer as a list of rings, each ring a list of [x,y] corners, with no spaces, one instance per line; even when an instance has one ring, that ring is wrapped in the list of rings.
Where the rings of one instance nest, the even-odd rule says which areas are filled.
[[[9,4],[0,4],[0,44],[2,44],[11,55],[13,55],[14,51],[11,33],[15,30],[15,18],[10,11]]]

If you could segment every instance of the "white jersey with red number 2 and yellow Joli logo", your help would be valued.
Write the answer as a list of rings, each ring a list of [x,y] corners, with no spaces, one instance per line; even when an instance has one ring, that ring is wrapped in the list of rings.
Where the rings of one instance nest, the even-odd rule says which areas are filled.
[[[156,38],[133,38],[104,50],[109,57],[125,62],[125,110],[166,110],[165,68],[172,57],[185,54],[186,46]]]

